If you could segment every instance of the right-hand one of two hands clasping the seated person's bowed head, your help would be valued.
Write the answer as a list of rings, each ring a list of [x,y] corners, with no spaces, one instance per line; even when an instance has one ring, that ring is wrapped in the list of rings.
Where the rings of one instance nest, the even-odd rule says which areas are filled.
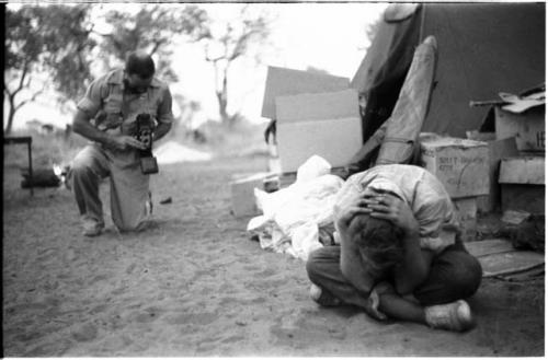
[[[419,232],[419,223],[406,201],[392,194],[375,193],[375,196],[364,200],[373,218],[392,222],[396,227],[402,229],[407,235],[414,235]]]

